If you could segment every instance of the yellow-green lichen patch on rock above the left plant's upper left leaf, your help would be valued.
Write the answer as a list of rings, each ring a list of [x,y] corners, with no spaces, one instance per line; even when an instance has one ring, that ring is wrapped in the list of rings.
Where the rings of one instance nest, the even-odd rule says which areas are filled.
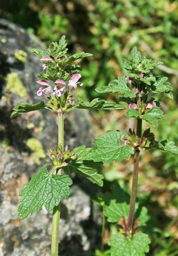
[[[27,96],[26,87],[20,81],[19,75],[16,72],[9,73],[6,77],[6,89],[12,93],[17,93],[20,97]]]

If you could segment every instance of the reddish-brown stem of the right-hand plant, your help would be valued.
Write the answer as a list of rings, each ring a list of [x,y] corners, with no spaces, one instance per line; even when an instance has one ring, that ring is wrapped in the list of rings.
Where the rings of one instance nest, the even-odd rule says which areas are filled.
[[[142,120],[137,119],[137,136],[141,138],[141,129],[142,129]],[[134,157],[134,171],[133,171],[133,179],[132,179],[132,192],[130,198],[130,210],[129,210],[129,219],[127,223],[127,231],[133,229],[133,221],[134,221],[134,212],[135,212],[135,201],[137,196],[137,182],[138,182],[138,170],[139,170],[139,160],[140,160],[140,150],[137,149],[135,151]]]

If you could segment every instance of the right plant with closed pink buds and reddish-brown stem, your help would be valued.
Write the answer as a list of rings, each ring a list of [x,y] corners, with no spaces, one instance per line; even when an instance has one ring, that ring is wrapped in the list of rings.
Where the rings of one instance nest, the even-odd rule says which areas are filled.
[[[119,163],[123,159],[129,160],[130,156],[134,155],[130,202],[129,195],[123,193],[117,185],[114,186],[112,194],[106,193],[103,201],[98,204],[103,207],[107,220],[118,224],[119,227],[108,243],[111,256],[143,256],[149,252],[150,240],[149,236],[142,232],[142,227],[146,226],[149,219],[147,209],[136,202],[140,154],[141,151],[153,148],[169,154],[178,154],[178,147],[172,141],[155,141],[155,135],[150,128],[142,131],[142,121],[156,126],[157,121],[164,118],[160,103],[155,97],[158,93],[165,92],[172,99],[173,89],[167,82],[167,77],[153,76],[150,73],[150,70],[162,62],[142,57],[136,47],[132,49],[131,55],[124,59],[124,64],[129,76],[118,77],[109,85],[98,87],[96,91],[121,94],[122,96],[116,97],[116,102],[128,104],[126,117],[137,120],[136,131],[131,128],[126,134],[121,131],[107,131],[106,135],[96,138],[95,147],[89,150],[86,159],[109,164],[113,161]]]

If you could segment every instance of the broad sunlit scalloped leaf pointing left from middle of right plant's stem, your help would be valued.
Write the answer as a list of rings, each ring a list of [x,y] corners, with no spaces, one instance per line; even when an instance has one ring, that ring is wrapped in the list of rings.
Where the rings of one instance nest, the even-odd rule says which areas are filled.
[[[121,137],[120,131],[107,131],[106,135],[98,136],[94,143],[95,147],[90,149],[85,159],[103,163],[119,163],[124,158],[128,160],[134,151],[128,145],[120,145]]]

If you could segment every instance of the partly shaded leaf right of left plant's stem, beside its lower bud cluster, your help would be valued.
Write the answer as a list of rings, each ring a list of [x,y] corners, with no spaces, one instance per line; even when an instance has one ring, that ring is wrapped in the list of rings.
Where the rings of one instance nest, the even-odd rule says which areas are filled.
[[[98,186],[103,186],[103,175],[98,172],[101,171],[102,163],[94,163],[93,161],[84,160],[89,149],[82,145],[73,150],[77,155],[77,159],[72,160],[63,169],[66,173],[71,174],[75,172],[83,177],[86,177],[92,183],[96,183]]]

